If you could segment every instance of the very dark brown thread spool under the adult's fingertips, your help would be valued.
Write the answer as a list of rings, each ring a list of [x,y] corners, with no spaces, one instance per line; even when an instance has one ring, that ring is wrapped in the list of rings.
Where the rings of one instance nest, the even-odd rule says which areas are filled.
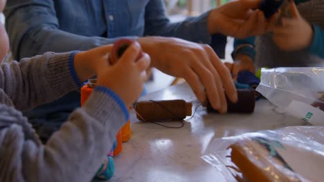
[[[232,103],[227,97],[226,100],[227,112],[251,113],[255,108],[255,90],[237,89],[237,103]],[[209,101],[207,103],[207,112],[218,112],[212,108]]]

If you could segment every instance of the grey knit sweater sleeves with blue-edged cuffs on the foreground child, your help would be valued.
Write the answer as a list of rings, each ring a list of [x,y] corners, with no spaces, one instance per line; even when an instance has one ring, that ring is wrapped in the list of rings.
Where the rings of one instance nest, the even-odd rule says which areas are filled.
[[[0,69],[0,181],[91,181],[111,149],[127,108],[107,88],[98,88],[43,145],[18,110],[78,90],[73,54],[5,63]]]

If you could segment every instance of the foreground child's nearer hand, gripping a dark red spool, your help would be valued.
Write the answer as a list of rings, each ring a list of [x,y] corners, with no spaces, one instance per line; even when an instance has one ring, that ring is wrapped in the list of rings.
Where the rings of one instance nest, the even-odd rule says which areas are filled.
[[[141,45],[135,42],[127,48],[117,63],[98,71],[98,85],[116,92],[126,105],[131,105],[138,99],[147,80],[146,70],[150,66],[150,56],[144,53],[136,61],[140,50]]]

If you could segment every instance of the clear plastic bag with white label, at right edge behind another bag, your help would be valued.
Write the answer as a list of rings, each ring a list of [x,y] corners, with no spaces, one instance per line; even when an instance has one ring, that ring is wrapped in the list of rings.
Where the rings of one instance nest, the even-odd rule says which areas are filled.
[[[262,68],[256,90],[281,112],[324,125],[324,68]]]

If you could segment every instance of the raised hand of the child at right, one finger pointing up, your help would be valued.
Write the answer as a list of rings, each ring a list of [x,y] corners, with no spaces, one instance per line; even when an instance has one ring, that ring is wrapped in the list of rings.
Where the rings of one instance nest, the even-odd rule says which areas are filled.
[[[282,18],[282,26],[273,28],[273,41],[282,50],[302,50],[312,42],[312,26],[300,16],[294,1],[289,6],[292,18]]]

